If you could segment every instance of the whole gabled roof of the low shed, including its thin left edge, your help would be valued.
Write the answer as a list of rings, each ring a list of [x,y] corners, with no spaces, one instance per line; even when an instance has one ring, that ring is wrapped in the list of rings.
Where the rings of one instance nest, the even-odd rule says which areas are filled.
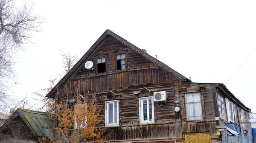
[[[46,112],[38,112],[29,109],[17,109],[12,115],[7,118],[7,120],[14,120],[15,117],[20,116],[26,125],[29,127],[31,132],[35,135],[38,140],[43,143],[48,143],[48,141],[42,140],[42,137],[53,137],[51,131],[51,124],[48,120],[48,115]],[[4,123],[3,123],[4,124]]]

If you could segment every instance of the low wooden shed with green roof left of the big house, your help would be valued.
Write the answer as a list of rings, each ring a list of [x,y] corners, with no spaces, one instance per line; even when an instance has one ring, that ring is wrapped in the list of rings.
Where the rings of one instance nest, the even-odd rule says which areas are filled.
[[[49,143],[52,136],[46,112],[17,109],[0,126],[0,143]]]

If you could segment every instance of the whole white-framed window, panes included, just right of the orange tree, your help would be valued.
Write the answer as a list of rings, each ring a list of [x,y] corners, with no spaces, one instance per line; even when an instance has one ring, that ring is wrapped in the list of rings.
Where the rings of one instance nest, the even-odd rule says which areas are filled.
[[[106,102],[106,126],[118,126],[119,124],[119,108],[118,101]]]

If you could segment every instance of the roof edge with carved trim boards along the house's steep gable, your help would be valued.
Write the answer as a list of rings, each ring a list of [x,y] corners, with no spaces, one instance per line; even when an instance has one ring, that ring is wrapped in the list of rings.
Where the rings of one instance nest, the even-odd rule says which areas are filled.
[[[108,37],[112,37],[118,42],[122,43],[125,45],[125,48],[120,47],[117,48],[116,50],[113,50],[113,53],[120,53],[120,52],[125,52],[127,49],[131,49],[140,56],[143,56],[143,58],[147,59],[150,61],[152,64],[154,64],[157,67],[163,68],[164,70],[168,71],[169,73],[172,73],[174,76],[176,76],[178,79],[181,81],[190,81],[186,77],[182,76],[180,73],[176,72],[172,68],[168,67],[166,64],[163,64],[159,60],[155,59],[154,57],[150,56],[148,53],[145,51],[141,50],[140,48],[137,48],[135,45],[131,44],[127,40],[123,39],[122,37],[118,36],[117,34],[113,33],[110,30],[106,30],[102,36],[99,37],[99,39],[93,44],[93,46],[82,56],[82,58],[75,64],[75,66],[59,81],[58,84],[55,85],[55,87],[46,95],[46,97],[54,98],[54,95],[58,88],[62,87],[64,83],[70,79],[71,76],[73,76],[77,70],[87,61],[92,56],[103,56],[107,55],[104,51],[98,51],[97,49],[101,47],[101,45],[104,44],[104,42],[108,39]],[[93,55],[92,55],[93,54]]]

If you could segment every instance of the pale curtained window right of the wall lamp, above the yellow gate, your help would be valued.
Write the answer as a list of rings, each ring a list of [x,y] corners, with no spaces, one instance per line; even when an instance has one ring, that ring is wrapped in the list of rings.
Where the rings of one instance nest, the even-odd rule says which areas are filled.
[[[202,120],[200,93],[187,93],[185,97],[187,120]]]

